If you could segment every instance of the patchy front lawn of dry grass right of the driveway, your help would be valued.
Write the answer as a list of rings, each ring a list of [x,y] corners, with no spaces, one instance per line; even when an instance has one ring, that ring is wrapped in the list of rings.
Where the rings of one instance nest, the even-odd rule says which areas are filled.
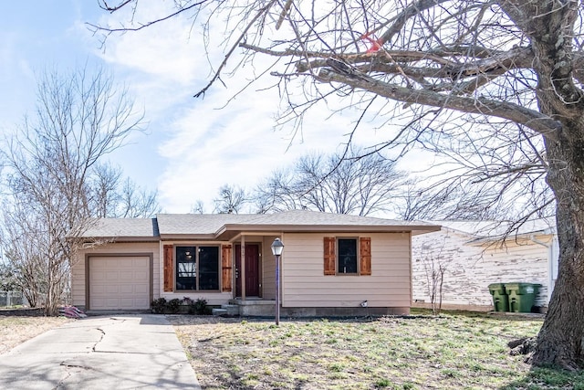
[[[541,320],[169,319],[205,389],[584,389],[584,374],[531,370],[509,354],[506,343]]]

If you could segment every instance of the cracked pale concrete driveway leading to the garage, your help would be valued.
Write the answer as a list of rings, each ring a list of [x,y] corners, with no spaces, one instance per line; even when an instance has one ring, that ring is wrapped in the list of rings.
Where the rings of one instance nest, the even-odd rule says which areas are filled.
[[[89,317],[0,355],[0,388],[200,389],[162,315]]]

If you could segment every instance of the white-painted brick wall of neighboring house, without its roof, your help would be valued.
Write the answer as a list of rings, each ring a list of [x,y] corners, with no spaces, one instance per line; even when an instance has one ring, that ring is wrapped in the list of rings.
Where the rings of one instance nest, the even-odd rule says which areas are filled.
[[[536,236],[551,244],[551,236]],[[491,283],[528,282],[543,287],[536,305],[547,306],[548,248],[527,239],[510,239],[500,246],[471,246],[469,235],[443,229],[412,238],[413,300],[430,302],[426,270],[428,259],[446,268],[443,279],[443,304],[491,306]]]

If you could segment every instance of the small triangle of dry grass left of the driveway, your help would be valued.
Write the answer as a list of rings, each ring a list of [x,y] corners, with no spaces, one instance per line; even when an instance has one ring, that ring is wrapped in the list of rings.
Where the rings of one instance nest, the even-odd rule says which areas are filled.
[[[16,345],[71,321],[65,317],[4,316],[0,315],[0,353]]]

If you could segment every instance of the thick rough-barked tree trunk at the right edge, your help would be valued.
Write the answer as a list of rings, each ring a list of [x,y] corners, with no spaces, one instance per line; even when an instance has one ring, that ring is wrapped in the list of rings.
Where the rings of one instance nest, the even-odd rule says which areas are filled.
[[[561,122],[557,136],[545,139],[546,180],[556,197],[558,280],[533,364],[577,370],[584,363],[584,104],[573,79],[571,37],[579,2],[516,4],[534,16],[524,23],[535,54],[539,111]]]

